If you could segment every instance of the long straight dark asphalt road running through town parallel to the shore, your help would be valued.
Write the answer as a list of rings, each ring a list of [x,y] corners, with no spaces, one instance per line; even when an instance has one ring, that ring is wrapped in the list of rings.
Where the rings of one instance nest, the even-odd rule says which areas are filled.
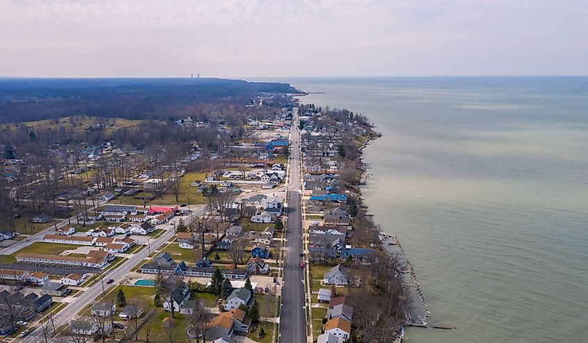
[[[307,341],[306,318],[304,313],[304,269],[300,267],[302,245],[302,209],[301,209],[301,164],[300,131],[297,111],[290,141],[290,176],[288,184],[288,219],[286,232],[286,249],[284,260],[284,283],[282,287],[282,309],[280,312],[281,343],[302,343]]]

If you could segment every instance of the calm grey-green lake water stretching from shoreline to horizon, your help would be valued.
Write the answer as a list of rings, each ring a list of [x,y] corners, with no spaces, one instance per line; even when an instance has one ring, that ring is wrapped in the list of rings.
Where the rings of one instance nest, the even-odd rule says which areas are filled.
[[[287,79],[363,113],[365,202],[427,300],[406,342],[588,342],[588,78]]]

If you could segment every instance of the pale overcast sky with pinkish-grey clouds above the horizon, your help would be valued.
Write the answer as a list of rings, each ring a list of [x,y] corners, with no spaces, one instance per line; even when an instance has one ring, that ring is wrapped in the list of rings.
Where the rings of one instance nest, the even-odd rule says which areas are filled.
[[[588,74],[586,0],[0,0],[0,75]]]

